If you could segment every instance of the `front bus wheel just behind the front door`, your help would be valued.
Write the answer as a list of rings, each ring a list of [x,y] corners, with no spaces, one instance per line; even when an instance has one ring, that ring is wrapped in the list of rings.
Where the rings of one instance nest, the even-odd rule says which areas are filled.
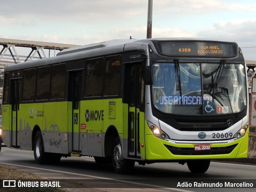
[[[134,161],[122,158],[122,146],[119,137],[114,140],[112,162],[115,172],[119,174],[129,174],[134,169]]]

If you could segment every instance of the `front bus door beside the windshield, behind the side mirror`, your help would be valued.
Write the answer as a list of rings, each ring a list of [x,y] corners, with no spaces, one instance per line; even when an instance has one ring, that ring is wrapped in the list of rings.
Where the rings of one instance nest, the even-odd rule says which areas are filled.
[[[140,157],[140,101],[142,86],[142,67],[140,63],[128,64],[129,91],[128,91],[128,155]],[[142,119],[143,120],[143,119]],[[144,130],[144,128],[142,128]]]

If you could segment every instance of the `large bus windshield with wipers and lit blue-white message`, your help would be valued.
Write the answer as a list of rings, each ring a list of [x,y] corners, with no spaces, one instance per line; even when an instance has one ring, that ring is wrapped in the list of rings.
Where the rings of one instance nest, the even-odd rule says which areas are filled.
[[[179,115],[218,115],[240,112],[246,106],[242,64],[154,63],[153,105]]]

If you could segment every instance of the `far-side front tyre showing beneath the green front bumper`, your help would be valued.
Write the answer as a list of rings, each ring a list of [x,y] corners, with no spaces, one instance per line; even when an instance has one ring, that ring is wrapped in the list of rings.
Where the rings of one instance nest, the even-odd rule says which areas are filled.
[[[187,165],[192,173],[204,173],[210,166],[210,160],[191,160],[187,162]]]

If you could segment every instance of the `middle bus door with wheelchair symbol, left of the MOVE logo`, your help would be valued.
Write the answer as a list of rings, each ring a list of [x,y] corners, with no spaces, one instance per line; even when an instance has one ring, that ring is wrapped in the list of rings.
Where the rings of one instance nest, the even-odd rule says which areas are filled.
[[[80,98],[82,72],[70,72],[69,93],[72,100],[72,152],[80,152]]]

